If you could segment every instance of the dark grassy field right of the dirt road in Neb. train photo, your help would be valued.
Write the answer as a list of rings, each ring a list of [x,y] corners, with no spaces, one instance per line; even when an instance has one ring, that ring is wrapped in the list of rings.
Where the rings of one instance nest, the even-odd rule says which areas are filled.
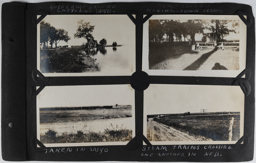
[[[190,135],[204,136],[214,141],[228,141],[230,121],[234,117],[232,139],[240,137],[240,115],[175,116],[154,118],[155,121],[174,127]]]

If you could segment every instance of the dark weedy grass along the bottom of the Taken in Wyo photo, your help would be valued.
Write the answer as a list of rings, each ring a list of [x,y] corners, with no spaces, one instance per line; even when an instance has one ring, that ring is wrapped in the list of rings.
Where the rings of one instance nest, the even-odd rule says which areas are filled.
[[[86,132],[84,129],[76,130],[75,133],[58,134],[55,130],[49,129],[44,134],[40,134],[40,141],[43,144],[51,143],[91,143],[91,142],[128,142],[132,140],[132,130],[121,127],[111,127],[104,132]]]

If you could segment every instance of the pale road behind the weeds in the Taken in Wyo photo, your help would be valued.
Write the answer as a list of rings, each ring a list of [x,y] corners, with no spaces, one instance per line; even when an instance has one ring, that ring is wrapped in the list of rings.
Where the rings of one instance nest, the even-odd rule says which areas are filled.
[[[133,119],[132,117],[128,118],[118,118],[118,119],[107,119],[107,120],[86,120],[86,121],[75,121],[75,122],[54,122],[54,123],[40,123],[40,133],[45,133],[48,129],[54,129],[58,133],[63,132],[74,132],[80,130],[84,125],[87,124],[85,131],[95,131],[95,132],[104,132],[104,129],[110,128],[110,123],[113,127],[118,128],[123,124],[123,128],[133,129]],[[74,128],[73,128],[74,127]]]

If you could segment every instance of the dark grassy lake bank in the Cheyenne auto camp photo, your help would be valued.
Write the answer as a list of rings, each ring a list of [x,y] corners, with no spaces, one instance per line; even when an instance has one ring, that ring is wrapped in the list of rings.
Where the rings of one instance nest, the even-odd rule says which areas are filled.
[[[83,73],[100,71],[99,63],[79,48],[40,50],[40,72]]]

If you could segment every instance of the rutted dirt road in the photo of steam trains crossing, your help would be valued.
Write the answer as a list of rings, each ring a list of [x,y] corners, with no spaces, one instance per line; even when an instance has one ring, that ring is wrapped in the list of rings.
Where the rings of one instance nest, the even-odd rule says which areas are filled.
[[[172,127],[159,124],[149,118],[147,122],[147,139],[149,141],[205,141],[203,136],[190,136]],[[207,139],[209,141],[209,139]]]

